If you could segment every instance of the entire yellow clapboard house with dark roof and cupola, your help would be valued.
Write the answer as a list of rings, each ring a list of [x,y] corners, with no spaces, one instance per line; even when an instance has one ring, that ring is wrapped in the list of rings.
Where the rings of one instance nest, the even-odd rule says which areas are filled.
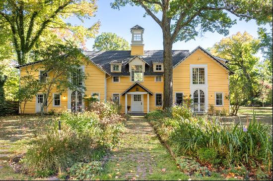
[[[129,51],[86,51],[86,64],[80,67],[88,73],[84,82],[87,96],[100,101],[113,100],[122,105],[123,112],[147,113],[162,107],[163,100],[163,50],[144,50],[144,29],[138,25],[131,29],[132,44]],[[195,112],[207,112],[212,105],[215,110],[229,111],[229,74],[227,60],[211,55],[202,47],[192,52],[172,50],[174,104],[183,99],[193,99]],[[20,76],[40,61],[17,66]],[[41,71],[36,72],[41,79]],[[53,101],[47,110],[82,111],[83,94],[68,90],[60,95],[53,93]],[[27,102],[24,113],[36,113],[45,101],[43,94],[33,96]]]

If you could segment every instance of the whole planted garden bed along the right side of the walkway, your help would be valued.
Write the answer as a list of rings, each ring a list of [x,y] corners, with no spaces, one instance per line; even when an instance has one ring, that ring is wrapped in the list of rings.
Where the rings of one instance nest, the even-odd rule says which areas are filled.
[[[171,112],[153,111],[146,118],[190,176],[272,178],[271,127],[257,123],[255,117],[245,127],[226,126],[219,119],[195,117],[189,109],[175,106]]]

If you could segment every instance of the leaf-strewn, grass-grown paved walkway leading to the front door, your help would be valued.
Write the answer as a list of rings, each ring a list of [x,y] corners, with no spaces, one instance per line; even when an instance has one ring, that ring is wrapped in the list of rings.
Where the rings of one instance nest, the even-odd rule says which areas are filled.
[[[167,155],[169,162],[171,157],[160,144],[149,123],[141,116],[134,116],[126,123],[126,128],[121,143],[113,150],[112,156],[105,165],[105,174],[99,179],[149,180],[154,174],[165,174],[170,165],[168,168],[163,168],[162,163],[159,165],[158,163],[165,162],[163,159],[166,158],[162,155]],[[174,162],[171,165],[176,167]],[[180,174],[178,169],[174,168],[174,170]]]

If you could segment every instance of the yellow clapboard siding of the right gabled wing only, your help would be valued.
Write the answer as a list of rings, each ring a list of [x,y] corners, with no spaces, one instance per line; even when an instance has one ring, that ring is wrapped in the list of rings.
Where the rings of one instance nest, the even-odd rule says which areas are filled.
[[[201,59],[199,59],[201,58]],[[203,51],[197,50],[187,59],[181,62],[173,71],[173,92],[183,92],[184,95],[190,95],[190,65],[206,64],[207,65],[207,84],[208,84],[208,105],[214,105],[215,109],[225,109],[229,111],[228,72],[218,63],[207,56]],[[181,84],[182,83],[182,84]],[[224,105],[215,106],[215,92],[223,92]]]

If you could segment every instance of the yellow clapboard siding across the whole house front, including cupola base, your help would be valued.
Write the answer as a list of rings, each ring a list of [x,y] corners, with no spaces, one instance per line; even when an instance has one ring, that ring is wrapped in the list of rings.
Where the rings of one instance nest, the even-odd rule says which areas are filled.
[[[141,54],[143,47],[136,46],[132,49],[134,54]],[[142,53],[143,54],[143,53]],[[88,61],[89,62],[89,61]],[[173,96],[175,101],[175,92],[183,92],[184,95],[191,94],[190,88],[190,65],[191,64],[205,64],[207,65],[207,100],[209,104],[214,105],[215,109],[218,110],[229,110],[229,99],[225,98],[229,94],[229,80],[228,72],[221,65],[216,63],[211,57],[207,56],[203,51],[197,50],[192,53],[187,59],[177,65],[173,70]],[[26,74],[26,70],[31,68],[39,68],[40,64],[34,64],[33,66],[22,67],[20,70],[21,76]],[[87,74],[87,80],[85,80],[86,92],[85,94],[91,96],[91,93],[99,93],[100,101],[112,99],[113,93],[121,94],[132,86],[135,82],[131,82],[130,76],[120,77],[119,83],[113,83],[112,77],[107,76],[105,85],[105,73],[92,63],[85,65],[85,73]],[[33,76],[39,78],[39,72],[33,72]],[[163,80],[162,80],[163,81]],[[146,89],[150,90],[154,95],[149,95],[149,110],[155,110],[159,107],[155,106],[155,93],[163,93],[163,82],[155,82],[154,76],[144,76],[143,82],[139,82]],[[105,97],[105,86],[107,87]],[[135,91],[134,88],[131,91]],[[139,88],[138,91],[144,91]],[[52,93],[56,92],[54,89]],[[224,105],[217,107],[215,106],[215,92],[223,92]],[[49,101],[50,102],[50,101]],[[125,112],[125,95],[120,96],[120,103],[122,104],[122,112]],[[143,95],[143,110],[147,112],[147,94]],[[131,95],[128,94],[128,105],[131,105]],[[53,107],[53,102],[48,105],[48,111],[51,109],[55,112],[67,110],[68,107],[68,92],[65,92],[61,96],[61,106]],[[35,113],[36,111],[36,97],[34,96],[31,102],[28,102],[25,107],[25,113]]]

